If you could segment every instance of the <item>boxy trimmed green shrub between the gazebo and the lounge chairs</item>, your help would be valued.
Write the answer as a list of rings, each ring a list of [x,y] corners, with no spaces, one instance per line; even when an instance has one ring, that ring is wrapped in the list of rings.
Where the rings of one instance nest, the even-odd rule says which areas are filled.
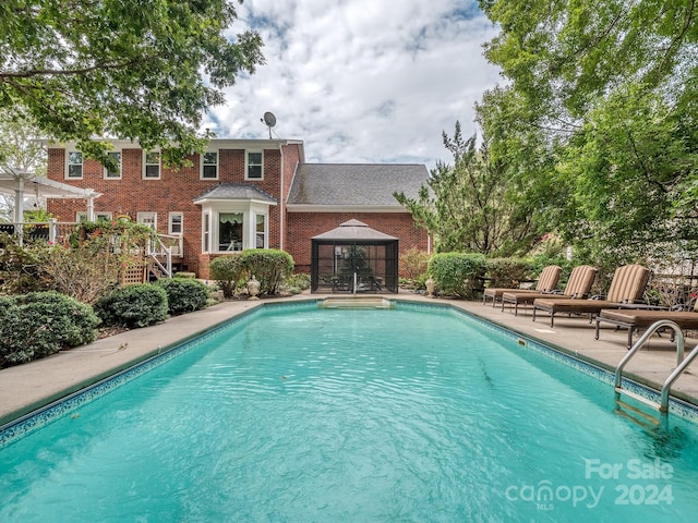
[[[438,292],[449,296],[472,297],[484,270],[482,254],[437,253],[429,262],[429,272]]]

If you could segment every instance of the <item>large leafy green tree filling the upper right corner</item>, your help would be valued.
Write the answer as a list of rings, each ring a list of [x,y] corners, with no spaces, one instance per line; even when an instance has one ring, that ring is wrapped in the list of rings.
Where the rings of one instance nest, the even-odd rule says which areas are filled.
[[[502,28],[485,54],[508,80],[480,104],[483,127],[551,227],[597,254],[627,257],[694,241],[695,1],[480,4]]]

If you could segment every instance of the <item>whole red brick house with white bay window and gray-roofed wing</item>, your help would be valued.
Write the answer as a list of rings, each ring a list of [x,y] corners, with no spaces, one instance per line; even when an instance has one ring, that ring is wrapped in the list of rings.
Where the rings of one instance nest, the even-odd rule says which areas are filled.
[[[208,278],[216,256],[244,248],[288,252],[310,271],[311,239],[357,219],[399,239],[399,250],[429,250],[429,238],[393,197],[417,197],[423,165],[305,163],[294,139],[213,139],[191,166],[170,170],[159,151],[112,141],[117,170],[85,158],[73,144],[47,143],[47,177],[101,196],[94,218],[132,220],[179,239],[179,269]],[[87,218],[83,202],[49,199],[59,221]]]

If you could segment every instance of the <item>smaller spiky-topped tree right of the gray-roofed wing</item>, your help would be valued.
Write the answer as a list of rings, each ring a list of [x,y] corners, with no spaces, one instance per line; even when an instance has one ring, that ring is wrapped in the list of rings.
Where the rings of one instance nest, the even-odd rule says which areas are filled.
[[[510,200],[503,163],[492,161],[488,142],[462,137],[456,122],[453,137],[443,133],[454,163],[438,162],[419,197],[395,197],[414,221],[435,239],[438,252],[507,255],[527,251],[535,235],[530,216]]]

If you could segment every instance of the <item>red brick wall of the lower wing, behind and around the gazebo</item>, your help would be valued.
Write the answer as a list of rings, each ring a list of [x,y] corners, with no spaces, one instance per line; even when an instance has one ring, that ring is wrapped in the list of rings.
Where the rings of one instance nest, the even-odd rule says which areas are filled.
[[[399,252],[428,248],[426,231],[418,229],[408,212],[289,212],[287,251],[293,257],[297,272],[310,273],[312,238],[356,219],[376,231],[399,239]]]

